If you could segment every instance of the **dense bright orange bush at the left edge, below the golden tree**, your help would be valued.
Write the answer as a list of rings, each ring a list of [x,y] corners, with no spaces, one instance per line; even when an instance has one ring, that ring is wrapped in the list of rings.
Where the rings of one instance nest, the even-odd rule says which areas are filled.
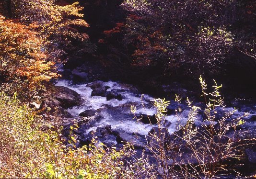
[[[47,61],[43,40],[29,26],[0,16],[0,77],[22,88],[35,89],[57,77],[54,62]]]

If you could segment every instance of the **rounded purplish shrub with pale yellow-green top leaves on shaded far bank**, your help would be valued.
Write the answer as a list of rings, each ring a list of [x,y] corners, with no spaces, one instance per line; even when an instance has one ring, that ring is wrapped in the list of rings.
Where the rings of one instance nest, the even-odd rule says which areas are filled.
[[[216,70],[225,63],[233,47],[233,35],[225,28],[201,27],[188,41],[191,63],[198,69]],[[215,69],[214,69],[215,68]]]

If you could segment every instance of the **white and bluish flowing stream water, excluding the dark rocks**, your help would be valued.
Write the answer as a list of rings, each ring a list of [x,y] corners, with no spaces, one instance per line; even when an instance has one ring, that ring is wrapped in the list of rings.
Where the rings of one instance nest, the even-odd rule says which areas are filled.
[[[112,99],[107,101],[106,97],[92,96],[92,91],[89,86],[93,83],[101,84],[103,87],[108,87],[107,91],[116,90],[122,96],[122,100]],[[68,112],[73,116],[79,116],[79,114],[85,110],[97,110],[100,114],[100,118],[91,123],[90,128],[87,129],[86,133],[96,130],[98,127],[105,127],[106,125],[111,125],[113,130],[124,131],[125,133],[132,134],[148,134],[154,125],[138,123],[134,119],[134,114],[130,112],[130,106],[136,106],[135,116],[140,118],[141,114],[153,115],[156,113],[156,109],[153,106],[153,98],[150,95],[138,94],[137,89],[133,85],[128,85],[124,83],[118,83],[113,81],[103,82],[95,81],[92,83],[83,84],[73,84],[72,80],[61,79],[58,81],[56,86],[64,86],[72,89],[79,93],[84,102],[81,106],[75,106],[68,109]],[[254,105],[252,108],[244,107],[244,110],[237,111],[234,113],[233,118],[239,117],[244,114],[244,112],[250,112],[250,118],[255,114]],[[247,110],[247,111],[246,111]],[[223,113],[223,111],[233,111],[233,108],[220,108],[218,111]],[[188,118],[189,110],[184,110],[179,117],[176,115],[167,115],[165,117],[165,127],[168,128],[170,133],[177,130],[178,123],[184,125]],[[201,121],[200,115],[197,116],[198,120]]]

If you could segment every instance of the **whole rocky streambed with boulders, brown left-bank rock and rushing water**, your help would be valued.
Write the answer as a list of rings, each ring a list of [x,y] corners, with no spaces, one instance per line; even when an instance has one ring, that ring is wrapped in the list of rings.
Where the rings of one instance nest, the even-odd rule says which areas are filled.
[[[93,137],[104,143],[106,146],[116,146],[120,148],[125,142],[132,142],[139,153],[141,149],[150,142],[147,136],[156,130],[156,109],[153,106],[153,97],[141,93],[137,86],[118,81],[103,80],[98,73],[95,75],[90,67],[79,67],[73,70],[60,69],[63,78],[55,84],[54,93],[49,101],[44,101],[41,106],[57,106],[64,119],[65,137],[69,135],[70,125],[76,119],[79,128],[74,131],[77,135],[77,147],[88,145]],[[99,75],[100,74],[100,75]],[[101,80],[99,80],[101,79]],[[163,86],[167,92],[176,92],[171,86]],[[186,89],[178,89],[182,96],[193,94]],[[166,95],[168,96],[168,95]],[[244,117],[244,124],[237,129],[236,137],[240,139],[256,138],[256,105],[252,102],[244,102],[241,99],[230,101],[238,107],[229,119],[235,119],[248,112]],[[201,109],[205,108],[202,102],[195,102]],[[132,114],[130,107],[135,106],[136,112]],[[182,112],[176,115],[176,109]],[[169,139],[174,140],[174,136],[179,133],[178,126],[185,125],[188,119],[189,108],[185,103],[170,101],[167,107],[167,116],[164,119],[163,130],[170,135]],[[233,111],[233,107],[219,108],[216,114],[216,125],[225,112]],[[137,121],[134,117],[140,118]],[[207,125],[204,122],[203,110],[196,116],[195,126],[200,128]],[[233,134],[234,131],[229,131]],[[173,135],[175,134],[175,135]],[[228,135],[228,134],[227,134]],[[172,139],[173,138],[173,139]],[[178,145],[178,144],[177,144]],[[256,163],[256,150],[250,146],[243,148],[245,152],[244,166],[251,170]],[[189,152],[183,151],[182,161],[189,156]],[[247,168],[248,169],[248,168]]]

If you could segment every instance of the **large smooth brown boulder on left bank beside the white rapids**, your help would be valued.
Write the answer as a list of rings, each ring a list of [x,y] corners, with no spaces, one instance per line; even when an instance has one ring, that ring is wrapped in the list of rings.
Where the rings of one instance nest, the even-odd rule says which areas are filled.
[[[55,86],[54,98],[59,102],[58,105],[64,109],[81,105],[81,95],[76,91],[63,86]]]

